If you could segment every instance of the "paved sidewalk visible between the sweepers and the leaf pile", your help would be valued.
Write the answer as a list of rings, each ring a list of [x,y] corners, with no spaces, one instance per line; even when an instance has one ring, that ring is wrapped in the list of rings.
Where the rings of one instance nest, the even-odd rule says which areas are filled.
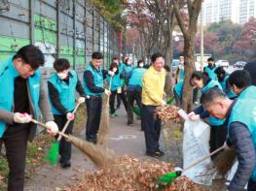
[[[128,154],[138,158],[146,157],[144,133],[140,131],[140,121],[135,119],[135,123],[130,127],[127,125],[125,110],[122,108],[118,113],[118,117],[110,118],[109,147],[114,149],[118,155]],[[83,138],[84,134],[85,130],[80,133],[80,138]],[[45,165],[32,179],[27,180],[24,190],[52,191],[55,188],[63,188],[63,186],[74,184],[81,179],[84,170],[89,171],[94,168],[91,161],[75,146],[73,146],[71,162],[71,168],[65,170],[61,169],[59,165],[55,167]]]

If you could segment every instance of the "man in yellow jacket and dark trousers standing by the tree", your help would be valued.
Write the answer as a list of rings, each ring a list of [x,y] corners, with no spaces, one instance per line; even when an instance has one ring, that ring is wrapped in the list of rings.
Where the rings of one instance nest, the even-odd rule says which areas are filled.
[[[165,58],[161,53],[151,56],[151,66],[143,76],[142,82],[142,107],[141,129],[145,133],[146,155],[162,157],[164,152],[160,150],[159,139],[161,132],[161,120],[155,116],[158,106],[165,106]]]

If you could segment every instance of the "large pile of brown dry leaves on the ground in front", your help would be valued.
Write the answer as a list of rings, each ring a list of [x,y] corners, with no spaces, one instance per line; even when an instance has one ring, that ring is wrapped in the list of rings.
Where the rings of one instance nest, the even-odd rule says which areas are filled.
[[[160,190],[155,180],[160,175],[173,171],[173,166],[165,162],[152,162],[122,156],[105,170],[86,172],[85,179],[66,191],[103,190]],[[163,188],[168,191],[203,191],[199,185],[185,176],[178,177],[171,185]]]

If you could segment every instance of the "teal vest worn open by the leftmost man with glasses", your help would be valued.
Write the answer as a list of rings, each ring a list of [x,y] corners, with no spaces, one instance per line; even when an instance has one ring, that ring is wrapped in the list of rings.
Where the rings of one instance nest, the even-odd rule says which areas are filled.
[[[13,111],[15,78],[19,76],[13,64],[13,57],[0,66],[0,109],[4,111]],[[28,78],[28,90],[31,96],[32,108],[34,109],[34,118],[38,118],[38,104],[40,97],[40,73],[36,71],[32,77]],[[0,138],[3,136],[6,123],[0,120]]]

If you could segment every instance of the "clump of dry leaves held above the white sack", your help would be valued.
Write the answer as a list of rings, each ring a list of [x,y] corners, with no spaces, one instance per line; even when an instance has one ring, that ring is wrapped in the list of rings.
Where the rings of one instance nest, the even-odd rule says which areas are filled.
[[[157,108],[156,114],[165,122],[168,120],[180,122],[180,116],[178,114],[178,111],[179,108],[175,106],[163,106]]]

